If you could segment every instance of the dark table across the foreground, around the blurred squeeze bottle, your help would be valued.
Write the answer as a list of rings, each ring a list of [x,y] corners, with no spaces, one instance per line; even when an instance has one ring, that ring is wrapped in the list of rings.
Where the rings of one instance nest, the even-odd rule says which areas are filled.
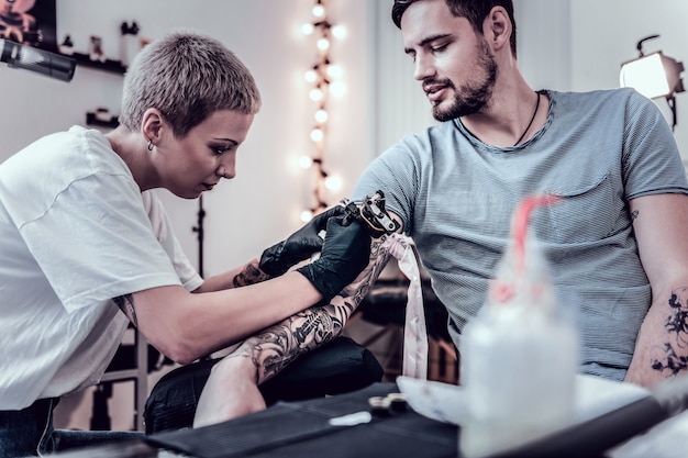
[[[457,453],[457,426],[424,417],[408,407],[373,411],[368,423],[355,426],[330,423],[331,418],[370,412],[368,400],[371,396],[396,392],[398,388],[393,383],[374,383],[363,390],[330,398],[278,402],[264,411],[212,426],[155,434],[136,442],[63,453],[59,457],[462,458]],[[688,393],[681,391],[679,394],[688,402]],[[667,412],[653,396],[644,396],[499,454],[499,458],[684,456],[685,447],[680,444],[688,437],[688,416],[673,418],[675,422],[667,424],[664,431],[661,425],[654,434],[643,434],[666,416]],[[625,443],[631,438],[633,440]],[[623,444],[621,448],[614,450],[620,444]],[[652,453],[646,454],[647,450]]]

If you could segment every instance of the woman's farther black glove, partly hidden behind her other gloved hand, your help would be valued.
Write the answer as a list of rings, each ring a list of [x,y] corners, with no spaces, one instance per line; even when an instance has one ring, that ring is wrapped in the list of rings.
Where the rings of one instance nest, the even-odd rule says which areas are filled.
[[[308,259],[322,249],[323,239],[318,235],[325,230],[328,220],[344,214],[342,205],[333,206],[313,217],[307,225],[295,232],[286,241],[273,245],[260,256],[260,270],[270,277],[279,277],[291,266]]]

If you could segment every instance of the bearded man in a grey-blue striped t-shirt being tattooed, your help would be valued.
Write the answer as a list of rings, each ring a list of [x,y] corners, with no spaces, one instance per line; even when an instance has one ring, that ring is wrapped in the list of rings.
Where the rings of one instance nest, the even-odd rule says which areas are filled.
[[[685,372],[688,180],[654,103],[632,89],[534,91],[517,65],[511,0],[395,0],[392,20],[441,123],[374,160],[353,200],[385,192],[456,347],[485,302],[513,210],[548,193],[562,199],[533,214],[531,231],[557,299],[578,319],[580,372],[645,387]],[[388,260],[380,244],[357,280],[363,293]],[[215,366],[201,399],[212,404],[207,422],[238,411],[217,402],[226,387],[259,404],[265,371],[251,361],[264,354],[249,339],[241,357]]]

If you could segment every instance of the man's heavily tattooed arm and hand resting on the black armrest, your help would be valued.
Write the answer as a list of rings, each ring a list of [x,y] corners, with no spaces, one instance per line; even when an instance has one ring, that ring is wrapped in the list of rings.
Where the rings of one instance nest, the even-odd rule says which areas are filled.
[[[258,384],[339,336],[389,259],[381,244],[382,239],[373,239],[368,267],[329,304],[310,308],[266,328],[218,362],[199,399],[193,426],[264,409]]]

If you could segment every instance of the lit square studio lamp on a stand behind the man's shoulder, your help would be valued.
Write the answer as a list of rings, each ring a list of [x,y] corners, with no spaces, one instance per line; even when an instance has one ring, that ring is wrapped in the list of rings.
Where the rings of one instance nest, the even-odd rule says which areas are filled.
[[[675,94],[685,91],[684,82],[680,78],[680,74],[684,71],[684,64],[665,56],[661,51],[648,55],[643,53],[643,43],[658,36],[646,36],[637,42],[636,49],[640,56],[621,64],[619,79],[621,87],[635,88],[648,99],[666,98],[674,116],[672,123],[672,130],[674,130],[676,126]]]

